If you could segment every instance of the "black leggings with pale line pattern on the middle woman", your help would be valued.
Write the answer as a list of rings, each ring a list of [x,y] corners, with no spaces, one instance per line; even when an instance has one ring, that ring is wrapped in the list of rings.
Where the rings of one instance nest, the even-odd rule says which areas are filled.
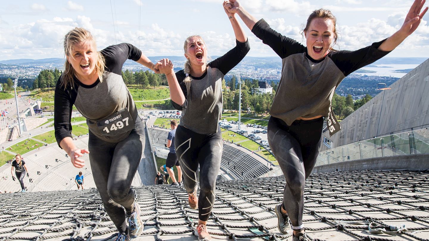
[[[176,154],[183,172],[183,185],[188,193],[197,186],[199,165],[198,218],[207,221],[215,203],[215,185],[221,169],[222,133],[202,135],[178,126],[175,136]]]

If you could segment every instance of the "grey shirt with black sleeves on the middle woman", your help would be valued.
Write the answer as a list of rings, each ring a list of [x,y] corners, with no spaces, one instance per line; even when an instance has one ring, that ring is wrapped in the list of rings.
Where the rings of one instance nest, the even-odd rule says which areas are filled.
[[[249,42],[236,41],[236,47],[224,56],[208,63],[207,71],[201,77],[192,77],[190,93],[183,82],[184,70],[176,73],[177,80],[185,96],[183,105],[172,102],[182,111],[180,124],[199,134],[218,132],[218,122],[222,115],[222,79],[246,56],[250,50]]]

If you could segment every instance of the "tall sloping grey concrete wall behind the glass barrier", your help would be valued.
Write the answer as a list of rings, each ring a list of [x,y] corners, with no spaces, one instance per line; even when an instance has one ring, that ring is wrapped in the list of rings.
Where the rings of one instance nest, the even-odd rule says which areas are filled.
[[[341,131],[334,136],[323,134],[331,140],[332,148],[429,127],[429,60],[389,87],[344,118]],[[325,150],[323,145],[321,151]]]

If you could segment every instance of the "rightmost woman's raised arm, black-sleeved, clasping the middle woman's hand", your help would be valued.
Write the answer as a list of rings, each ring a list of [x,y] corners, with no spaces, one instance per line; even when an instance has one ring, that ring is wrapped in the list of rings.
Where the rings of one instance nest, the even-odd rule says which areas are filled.
[[[252,33],[264,44],[269,45],[282,59],[291,54],[305,52],[305,47],[302,44],[273,30],[265,20],[258,21],[244,9],[239,1],[229,0],[225,7],[228,12],[237,13]]]

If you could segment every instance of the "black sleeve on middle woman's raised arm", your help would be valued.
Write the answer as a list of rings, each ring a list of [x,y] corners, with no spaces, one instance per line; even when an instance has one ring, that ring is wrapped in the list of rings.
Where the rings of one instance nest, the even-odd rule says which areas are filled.
[[[246,56],[250,50],[249,40],[239,42],[236,39],[236,46],[221,57],[208,63],[211,68],[219,69],[224,75],[233,69]]]

